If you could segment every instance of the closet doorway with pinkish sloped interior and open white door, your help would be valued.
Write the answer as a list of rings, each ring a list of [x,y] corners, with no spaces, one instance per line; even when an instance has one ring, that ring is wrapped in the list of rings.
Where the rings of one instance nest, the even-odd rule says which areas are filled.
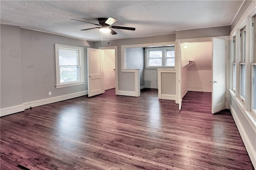
[[[181,48],[178,55],[179,109],[181,109],[182,98],[188,91],[210,93],[212,113],[225,109],[225,40],[210,38],[210,41],[176,40],[176,42],[180,44]],[[191,49],[188,49],[189,47]]]

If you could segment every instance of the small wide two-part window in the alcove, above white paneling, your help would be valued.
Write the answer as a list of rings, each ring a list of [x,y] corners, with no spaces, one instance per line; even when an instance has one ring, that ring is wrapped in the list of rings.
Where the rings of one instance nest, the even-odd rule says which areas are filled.
[[[174,46],[145,48],[146,67],[175,67]]]

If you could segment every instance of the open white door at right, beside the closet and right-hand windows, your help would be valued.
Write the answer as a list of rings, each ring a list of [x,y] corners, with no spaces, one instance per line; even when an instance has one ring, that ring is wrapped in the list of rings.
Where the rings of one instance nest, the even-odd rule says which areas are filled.
[[[226,107],[226,42],[212,38],[212,113]]]

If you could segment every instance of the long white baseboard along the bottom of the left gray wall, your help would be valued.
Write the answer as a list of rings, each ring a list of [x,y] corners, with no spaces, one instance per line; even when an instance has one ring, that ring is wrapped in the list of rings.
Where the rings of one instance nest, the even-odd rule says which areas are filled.
[[[88,95],[87,90],[77,92],[77,93],[71,93],[71,94],[68,94],[68,95],[62,95],[62,96],[37,100],[37,101],[30,101],[30,102],[22,103],[22,105],[17,105],[17,106],[12,106],[12,107],[7,107],[7,108],[1,109],[0,116],[1,117],[6,116],[6,115],[13,114],[13,113],[18,113],[18,112],[24,111],[25,109],[28,109],[30,107],[37,107],[37,106],[47,105],[47,104],[50,104],[50,103],[55,103],[55,102],[58,102],[58,101],[64,101],[64,100],[68,100],[68,99],[72,99],[72,98],[80,97],[80,96],[84,96],[84,95]]]

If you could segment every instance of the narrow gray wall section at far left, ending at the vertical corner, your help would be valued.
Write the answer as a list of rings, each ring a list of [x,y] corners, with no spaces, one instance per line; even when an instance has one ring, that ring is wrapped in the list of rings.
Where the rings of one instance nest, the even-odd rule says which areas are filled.
[[[22,105],[20,28],[1,25],[1,108]]]

